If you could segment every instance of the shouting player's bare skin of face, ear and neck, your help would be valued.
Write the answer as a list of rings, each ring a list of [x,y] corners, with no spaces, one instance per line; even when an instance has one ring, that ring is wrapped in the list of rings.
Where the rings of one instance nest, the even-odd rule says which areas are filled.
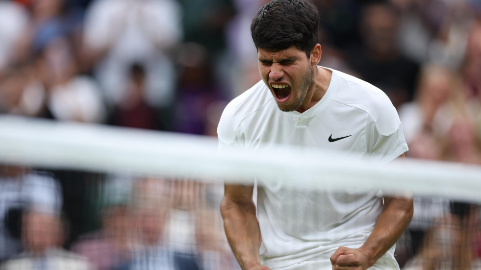
[[[291,46],[283,50],[257,49],[259,73],[280,110],[305,112],[326,93],[332,72],[318,67],[321,45],[316,44],[308,58],[304,51]],[[277,98],[273,85],[287,85],[287,98]]]

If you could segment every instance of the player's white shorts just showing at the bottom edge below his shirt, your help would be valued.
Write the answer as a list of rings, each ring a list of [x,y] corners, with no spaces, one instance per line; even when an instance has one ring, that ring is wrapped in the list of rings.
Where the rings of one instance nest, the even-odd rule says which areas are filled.
[[[271,270],[332,270],[332,264],[329,259],[312,260]],[[393,255],[386,253],[369,270],[399,270],[399,265]]]

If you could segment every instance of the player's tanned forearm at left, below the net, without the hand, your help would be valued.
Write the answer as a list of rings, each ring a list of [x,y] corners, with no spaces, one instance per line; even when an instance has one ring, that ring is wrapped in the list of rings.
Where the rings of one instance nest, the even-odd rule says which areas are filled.
[[[221,213],[229,245],[241,268],[260,265],[260,229],[253,201],[240,204],[224,197]]]

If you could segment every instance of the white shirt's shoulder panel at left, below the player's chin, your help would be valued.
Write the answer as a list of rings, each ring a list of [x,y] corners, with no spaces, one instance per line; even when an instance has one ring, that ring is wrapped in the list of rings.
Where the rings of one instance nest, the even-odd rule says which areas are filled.
[[[217,135],[219,140],[225,144],[231,143],[235,139],[237,129],[241,123],[265,107],[272,96],[267,86],[261,80],[246,92],[228,103],[222,113]]]

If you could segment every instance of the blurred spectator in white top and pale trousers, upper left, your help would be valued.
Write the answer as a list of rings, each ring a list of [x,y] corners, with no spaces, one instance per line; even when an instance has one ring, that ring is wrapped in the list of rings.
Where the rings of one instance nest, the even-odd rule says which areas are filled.
[[[84,42],[109,104],[126,96],[133,63],[146,70],[145,100],[171,105],[176,72],[169,51],[182,37],[175,0],[96,0],[86,13]]]

